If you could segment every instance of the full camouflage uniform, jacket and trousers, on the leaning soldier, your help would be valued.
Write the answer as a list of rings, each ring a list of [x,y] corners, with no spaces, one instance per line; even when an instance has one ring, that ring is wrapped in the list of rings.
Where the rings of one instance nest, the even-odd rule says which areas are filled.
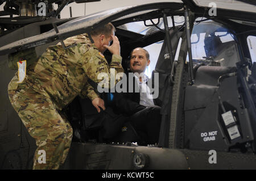
[[[58,110],[62,110],[77,95],[91,100],[98,95],[88,83],[88,78],[98,83],[99,73],[123,72],[122,57],[114,54],[108,65],[104,56],[82,34],[50,46],[39,60],[27,68],[26,78],[18,82],[18,75],[9,83],[10,102],[28,132],[36,140],[33,169],[58,169],[67,157],[72,140],[72,128]],[[23,59],[25,60],[26,57]],[[110,76],[109,76],[110,77]],[[39,163],[39,150],[46,151],[46,163]]]

